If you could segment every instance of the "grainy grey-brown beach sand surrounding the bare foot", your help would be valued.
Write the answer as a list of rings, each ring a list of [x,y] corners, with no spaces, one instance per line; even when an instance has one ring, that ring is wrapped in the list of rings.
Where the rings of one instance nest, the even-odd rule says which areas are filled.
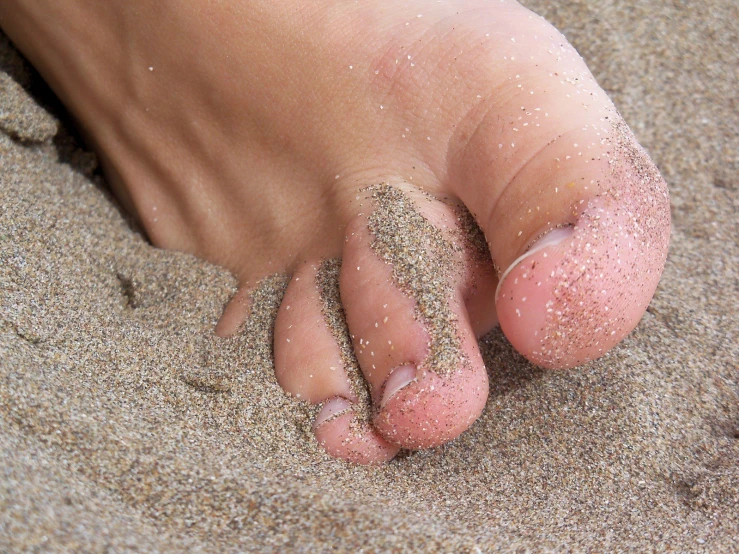
[[[667,179],[667,268],[587,366],[492,332],[479,421],[379,468],[277,385],[284,279],[217,339],[234,278],[146,242],[0,35],[0,552],[739,551],[739,7],[526,4]]]

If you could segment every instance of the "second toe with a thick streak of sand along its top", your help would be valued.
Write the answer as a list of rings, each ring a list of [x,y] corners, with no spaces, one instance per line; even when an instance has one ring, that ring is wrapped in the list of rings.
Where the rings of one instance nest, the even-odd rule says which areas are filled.
[[[436,446],[467,429],[487,399],[465,307],[469,248],[448,205],[390,185],[366,194],[361,210],[369,215],[358,215],[347,231],[341,298],[373,421],[403,447]]]

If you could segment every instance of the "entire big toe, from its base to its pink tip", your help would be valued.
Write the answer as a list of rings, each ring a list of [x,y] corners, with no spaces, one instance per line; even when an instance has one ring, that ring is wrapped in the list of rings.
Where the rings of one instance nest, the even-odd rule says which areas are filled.
[[[510,46],[522,60],[514,93],[491,96],[460,126],[450,183],[475,208],[502,270],[506,336],[532,362],[564,368],[602,355],[638,323],[667,256],[669,197],[582,59],[536,25],[546,41]]]

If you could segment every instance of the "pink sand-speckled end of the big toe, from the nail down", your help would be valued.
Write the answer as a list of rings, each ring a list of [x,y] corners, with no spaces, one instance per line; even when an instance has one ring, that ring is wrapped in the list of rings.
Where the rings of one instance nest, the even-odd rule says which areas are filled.
[[[669,211],[662,194],[612,188],[572,206],[570,222],[537,238],[501,279],[498,317],[534,363],[565,368],[600,357],[641,319],[662,273]]]

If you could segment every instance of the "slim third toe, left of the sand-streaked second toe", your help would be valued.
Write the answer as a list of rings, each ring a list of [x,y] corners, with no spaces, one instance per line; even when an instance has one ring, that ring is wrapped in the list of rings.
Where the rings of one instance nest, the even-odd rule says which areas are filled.
[[[275,321],[275,374],[288,393],[322,404],[313,427],[329,455],[385,462],[398,447],[369,423],[369,395],[347,337],[338,271],[337,260],[296,271]]]

